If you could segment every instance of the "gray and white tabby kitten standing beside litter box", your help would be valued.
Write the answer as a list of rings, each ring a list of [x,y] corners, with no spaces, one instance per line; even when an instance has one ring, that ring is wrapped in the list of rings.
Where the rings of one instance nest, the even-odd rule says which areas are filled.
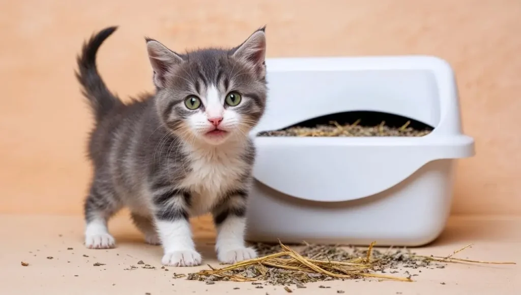
[[[96,52],[115,30],[93,35],[78,56],[76,75],[96,120],[85,246],[115,247],[107,221],[128,207],[146,242],[163,245],[164,265],[199,265],[189,217],[211,212],[218,260],[255,258],[244,215],[255,157],[248,134],[266,104],[265,28],[231,49],[185,54],[146,39],[156,92],[128,104],[96,69]]]

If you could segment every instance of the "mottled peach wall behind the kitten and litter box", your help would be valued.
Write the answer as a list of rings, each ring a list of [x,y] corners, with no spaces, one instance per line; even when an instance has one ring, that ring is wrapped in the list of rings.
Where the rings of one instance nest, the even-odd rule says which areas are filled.
[[[448,60],[477,150],[458,164],[453,212],[521,213],[519,0],[1,1],[0,212],[81,212],[91,119],[73,70],[92,32],[120,25],[98,64],[125,97],[152,89],[143,36],[230,46],[264,24],[268,57]]]

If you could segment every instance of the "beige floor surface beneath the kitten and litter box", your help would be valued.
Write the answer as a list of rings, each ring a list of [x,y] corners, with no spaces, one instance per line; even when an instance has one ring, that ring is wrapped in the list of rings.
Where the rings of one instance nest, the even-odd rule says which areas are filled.
[[[255,288],[251,283],[201,281],[172,278],[174,273],[197,268],[160,265],[161,248],[144,245],[142,237],[125,216],[110,224],[117,239],[116,249],[89,250],[82,245],[79,216],[0,215],[0,293],[2,294],[287,294],[282,287]],[[442,236],[429,246],[415,249],[420,254],[446,255],[468,243],[472,248],[461,258],[521,262],[521,217],[452,217]],[[194,223],[197,247],[204,264],[215,266],[214,232],[207,219]],[[72,248],[68,250],[68,248]],[[52,259],[48,259],[52,257]],[[155,269],[125,270],[138,261]],[[21,266],[21,262],[29,266]],[[105,265],[94,266],[99,262]],[[295,294],[519,294],[521,268],[517,265],[450,264],[446,268],[411,271],[415,281],[346,280],[291,286]],[[319,288],[323,285],[330,288]],[[234,289],[239,288],[239,289]],[[516,291],[517,290],[517,291]]]

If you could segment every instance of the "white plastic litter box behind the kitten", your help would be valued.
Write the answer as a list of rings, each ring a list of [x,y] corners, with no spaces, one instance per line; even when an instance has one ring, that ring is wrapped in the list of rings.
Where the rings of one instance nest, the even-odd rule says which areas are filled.
[[[267,59],[269,101],[246,238],[258,242],[421,246],[448,219],[454,162],[474,156],[450,65],[430,56]],[[421,137],[261,137],[368,111],[432,126]]]

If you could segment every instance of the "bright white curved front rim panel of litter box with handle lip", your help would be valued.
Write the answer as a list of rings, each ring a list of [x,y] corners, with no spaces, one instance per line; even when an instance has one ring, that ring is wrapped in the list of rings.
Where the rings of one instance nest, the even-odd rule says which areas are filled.
[[[257,137],[253,176],[295,198],[362,199],[399,184],[430,161],[468,155],[471,143],[456,139]]]

